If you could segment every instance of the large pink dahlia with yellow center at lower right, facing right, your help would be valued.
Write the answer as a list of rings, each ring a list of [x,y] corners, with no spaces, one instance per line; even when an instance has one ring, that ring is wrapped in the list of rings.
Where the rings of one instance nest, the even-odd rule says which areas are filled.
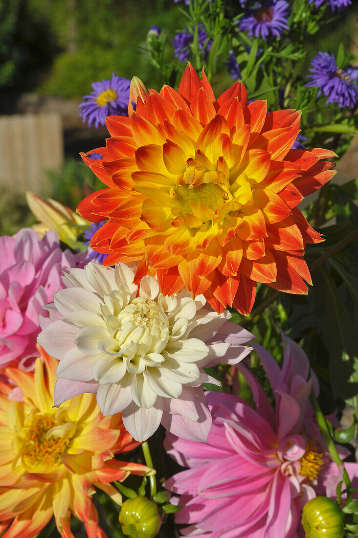
[[[308,399],[312,381],[308,359],[284,338],[282,369],[261,346],[255,350],[270,380],[276,411],[252,374],[247,379],[256,409],[231,394],[206,393],[213,415],[207,443],[167,434],[165,448],[189,467],[166,481],[181,495],[178,523],[195,538],[300,538],[300,511],[306,501],[325,493],[338,468],[320,435]],[[348,452],[340,449],[341,457]],[[351,477],[358,464],[347,464]],[[327,487],[328,491],[328,487]]]

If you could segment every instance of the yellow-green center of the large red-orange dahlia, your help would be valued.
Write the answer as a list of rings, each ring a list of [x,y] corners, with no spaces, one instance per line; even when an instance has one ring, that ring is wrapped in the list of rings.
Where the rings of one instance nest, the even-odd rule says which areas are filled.
[[[171,194],[173,206],[179,210],[181,217],[185,217],[188,213],[194,214],[191,202],[196,205],[201,202],[204,206],[216,211],[228,198],[227,193],[214,183],[203,183],[192,189],[188,185],[178,185]]]

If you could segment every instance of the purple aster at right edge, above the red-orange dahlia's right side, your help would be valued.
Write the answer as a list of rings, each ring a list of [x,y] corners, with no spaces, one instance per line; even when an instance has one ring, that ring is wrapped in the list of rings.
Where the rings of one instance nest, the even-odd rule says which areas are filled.
[[[312,60],[311,82],[307,87],[318,88],[317,97],[321,94],[328,97],[326,104],[336,103],[339,108],[353,108],[358,101],[358,86],[349,74],[339,69],[333,54],[319,52]]]

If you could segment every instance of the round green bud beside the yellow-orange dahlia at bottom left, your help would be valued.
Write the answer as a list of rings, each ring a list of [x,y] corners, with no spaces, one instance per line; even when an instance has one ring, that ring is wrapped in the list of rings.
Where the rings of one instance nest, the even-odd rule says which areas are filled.
[[[130,538],[154,538],[162,525],[158,506],[142,495],[123,502],[119,519]]]

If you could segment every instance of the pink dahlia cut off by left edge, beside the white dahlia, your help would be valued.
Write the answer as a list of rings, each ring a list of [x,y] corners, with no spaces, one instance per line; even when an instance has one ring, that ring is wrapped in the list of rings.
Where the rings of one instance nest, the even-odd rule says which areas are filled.
[[[85,261],[86,254],[62,252],[57,234],[40,239],[31,228],[16,237],[0,237],[0,368],[16,361],[32,370],[38,356],[36,338],[43,306],[64,287],[62,270]]]

